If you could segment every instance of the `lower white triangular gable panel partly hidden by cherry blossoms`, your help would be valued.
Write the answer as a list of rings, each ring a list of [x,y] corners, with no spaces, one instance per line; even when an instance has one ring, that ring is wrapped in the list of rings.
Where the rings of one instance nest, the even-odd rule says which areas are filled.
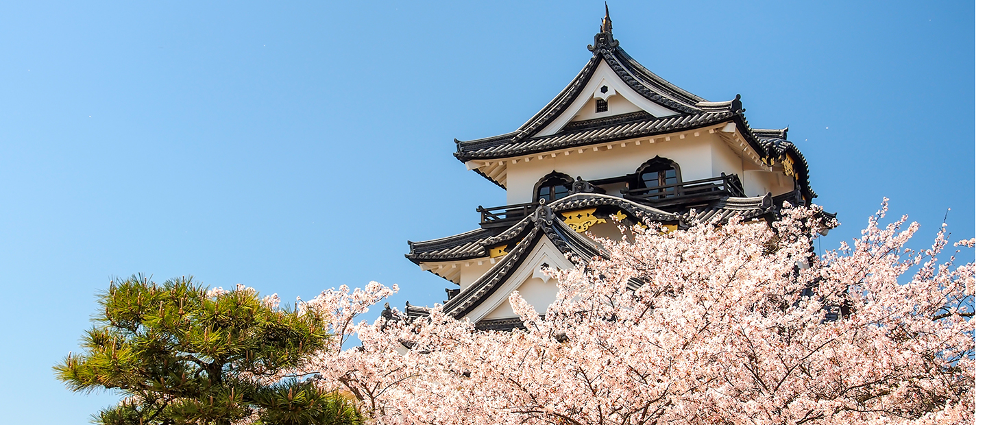
[[[535,311],[545,313],[548,306],[555,301],[559,288],[555,279],[542,273],[542,264],[561,269],[573,266],[566,255],[543,235],[514,273],[486,301],[466,315],[465,319],[476,323],[482,319],[516,318],[509,300],[510,293],[515,290],[521,293],[528,304],[534,306]]]

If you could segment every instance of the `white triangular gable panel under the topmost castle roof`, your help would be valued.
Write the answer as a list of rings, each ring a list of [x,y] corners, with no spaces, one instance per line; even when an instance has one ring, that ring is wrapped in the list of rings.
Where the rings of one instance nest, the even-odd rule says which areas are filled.
[[[600,89],[606,86],[606,93],[601,93]],[[634,89],[629,87],[627,84],[617,76],[617,73],[610,68],[604,61],[600,61],[596,65],[596,69],[593,71],[593,76],[589,78],[586,86],[583,87],[582,92],[579,96],[575,98],[565,111],[562,112],[555,120],[553,120],[549,125],[539,131],[535,137],[548,136],[551,134],[558,133],[562,127],[565,127],[570,121],[575,120],[576,115],[580,114],[580,110],[584,107],[589,107],[587,104],[592,104],[595,111],[596,99],[603,99],[609,101],[613,95],[620,95],[620,98],[631,104],[630,106],[621,106],[617,109],[610,109],[606,112],[593,113],[591,116],[578,116],[579,119],[588,118],[602,118],[605,116],[616,115],[620,113],[633,112],[636,110],[646,110],[648,113],[654,115],[655,117],[670,116],[678,114],[678,112],[669,109],[665,106],[657,105],[651,101],[645,99],[644,96],[635,92]],[[628,110],[625,110],[628,109]]]

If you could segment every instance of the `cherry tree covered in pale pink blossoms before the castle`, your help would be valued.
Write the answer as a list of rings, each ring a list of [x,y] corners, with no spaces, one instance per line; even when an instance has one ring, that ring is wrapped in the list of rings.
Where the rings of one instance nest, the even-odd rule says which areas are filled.
[[[852,246],[817,256],[817,207],[773,222],[634,228],[607,258],[547,270],[559,295],[482,331],[441,306],[353,323],[397,287],[324,292],[331,345],[299,374],[348,392],[377,423],[972,423],[972,263],[905,244],[886,200]],[[973,248],[974,242],[957,246]],[[362,346],[343,350],[356,335]]]

